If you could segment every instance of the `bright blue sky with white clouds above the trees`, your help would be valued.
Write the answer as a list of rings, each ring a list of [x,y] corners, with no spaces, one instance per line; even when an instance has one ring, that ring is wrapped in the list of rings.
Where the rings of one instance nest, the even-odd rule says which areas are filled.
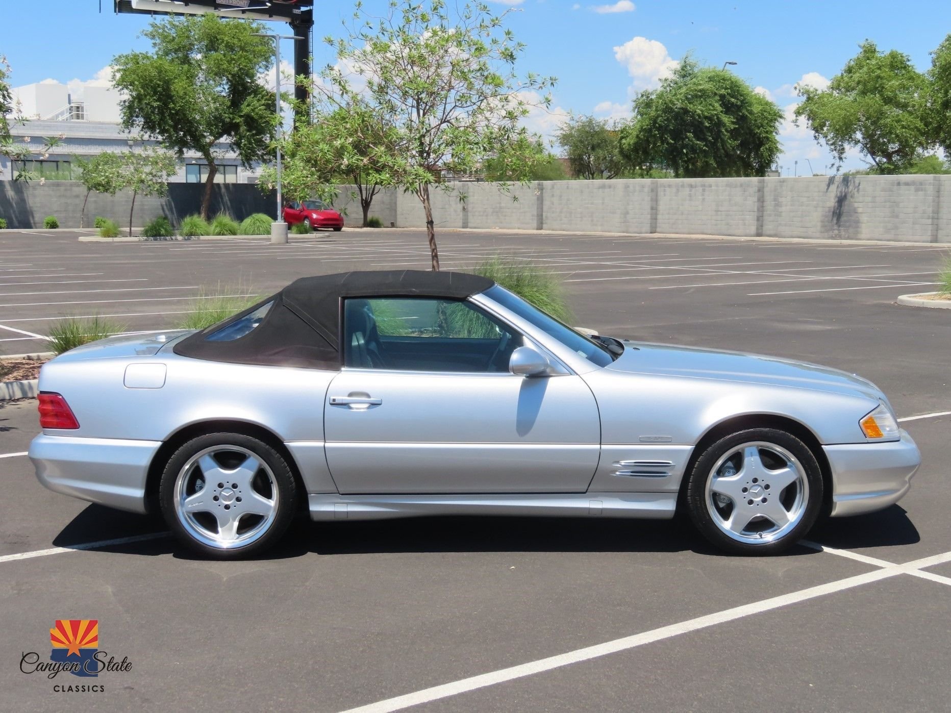
[[[37,6],[42,5],[42,18]],[[13,69],[14,85],[56,79],[103,81],[112,56],[146,48],[137,35],[144,16],[116,16],[112,0],[2,0],[5,31],[0,53]],[[384,4],[366,3],[371,10]],[[762,87],[787,111],[795,104],[791,87],[805,80],[821,85],[836,74],[868,38],[880,48],[910,55],[921,69],[928,52],[951,32],[951,0],[506,0],[496,10],[514,8],[509,26],[528,47],[518,67],[558,77],[553,112],[534,112],[533,128],[550,134],[565,113],[621,116],[637,89],[654,86],[671,63],[692,51],[704,63],[725,61],[753,87]],[[340,30],[351,3],[320,3],[318,37]],[[606,11],[613,10],[613,11]],[[276,28],[287,29],[286,26]],[[11,31],[15,29],[15,31]],[[291,47],[283,48],[290,56]],[[317,46],[318,64],[333,61]],[[817,173],[830,158],[804,127],[784,123],[784,174],[799,174],[808,159]],[[855,157],[850,167],[861,166]]]

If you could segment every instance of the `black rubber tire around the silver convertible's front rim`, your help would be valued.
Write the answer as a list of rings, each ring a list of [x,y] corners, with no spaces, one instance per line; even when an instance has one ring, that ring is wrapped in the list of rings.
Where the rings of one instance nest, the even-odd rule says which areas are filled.
[[[804,489],[801,499],[799,500],[802,515],[798,523],[781,536],[776,536],[774,539],[767,539],[762,543],[740,541],[740,539],[737,539],[737,537],[745,537],[747,540],[750,539],[752,535],[747,534],[746,530],[739,535],[728,535],[721,529],[722,526],[714,521],[714,514],[710,512],[711,509],[716,511],[712,497],[710,498],[710,502],[708,502],[707,485],[708,481],[711,480],[714,475],[714,466],[717,465],[723,456],[730,453],[730,451],[749,443],[767,444],[761,453],[768,453],[768,445],[773,445],[794,456],[801,466],[801,472],[805,479],[805,485],[807,486],[807,495]],[[801,487],[802,486],[797,486],[797,488]],[[782,491],[780,495],[776,496],[776,500],[781,501],[781,496],[784,496],[785,493],[786,490]],[[795,495],[796,493],[791,492],[788,494]],[[803,441],[792,434],[787,434],[785,431],[776,429],[749,429],[725,436],[708,446],[703,453],[700,453],[699,457],[693,462],[693,467],[687,475],[687,488],[684,502],[690,521],[694,527],[717,548],[737,554],[770,555],[779,554],[789,549],[800,539],[805,537],[805,534],[812,529],[816,518],[822,511],[823,497],[822,470],[819,467],[815,454],[812,453]],[[747,502],[751,503],[752,501]],[[727,507],[732,509],[737,506],[730,505]],[[760,523],[763,522],[763,519],[754,519],[752,522],[754,524]],[[790,523],[791,522],[792,520],[790,520]],[[767,521],[763,524],[766,526],[771,523]],[[762,537],[763,535],[761,534],[760,536]]]

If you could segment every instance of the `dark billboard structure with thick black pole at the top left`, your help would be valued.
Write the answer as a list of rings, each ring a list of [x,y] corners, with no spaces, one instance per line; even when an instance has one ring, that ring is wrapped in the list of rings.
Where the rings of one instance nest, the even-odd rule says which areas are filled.
[[[310,75],[314,51],[314,0],[114,0],[116,12],[138,14],[201,15],[289,23],[294,41],[294,74]],[[295,97],[306,103],[306,87],[295,87]]]

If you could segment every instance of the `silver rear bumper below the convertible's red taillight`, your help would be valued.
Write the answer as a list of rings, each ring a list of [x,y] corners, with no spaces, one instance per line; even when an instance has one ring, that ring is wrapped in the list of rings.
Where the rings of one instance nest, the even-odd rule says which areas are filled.
[[[36,478],[54,492],[130,512],[146,511],[146,476],[161,441],[40,434],[29,444]]]

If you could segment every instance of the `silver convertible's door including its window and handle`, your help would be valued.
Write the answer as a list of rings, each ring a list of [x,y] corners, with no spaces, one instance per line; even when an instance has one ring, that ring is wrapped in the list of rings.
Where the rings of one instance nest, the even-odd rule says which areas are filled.
[[[324,405],[343,493],[583,492],[600,449],[587,384],[515,376],[525,337],[471,302],[347,299]]]

